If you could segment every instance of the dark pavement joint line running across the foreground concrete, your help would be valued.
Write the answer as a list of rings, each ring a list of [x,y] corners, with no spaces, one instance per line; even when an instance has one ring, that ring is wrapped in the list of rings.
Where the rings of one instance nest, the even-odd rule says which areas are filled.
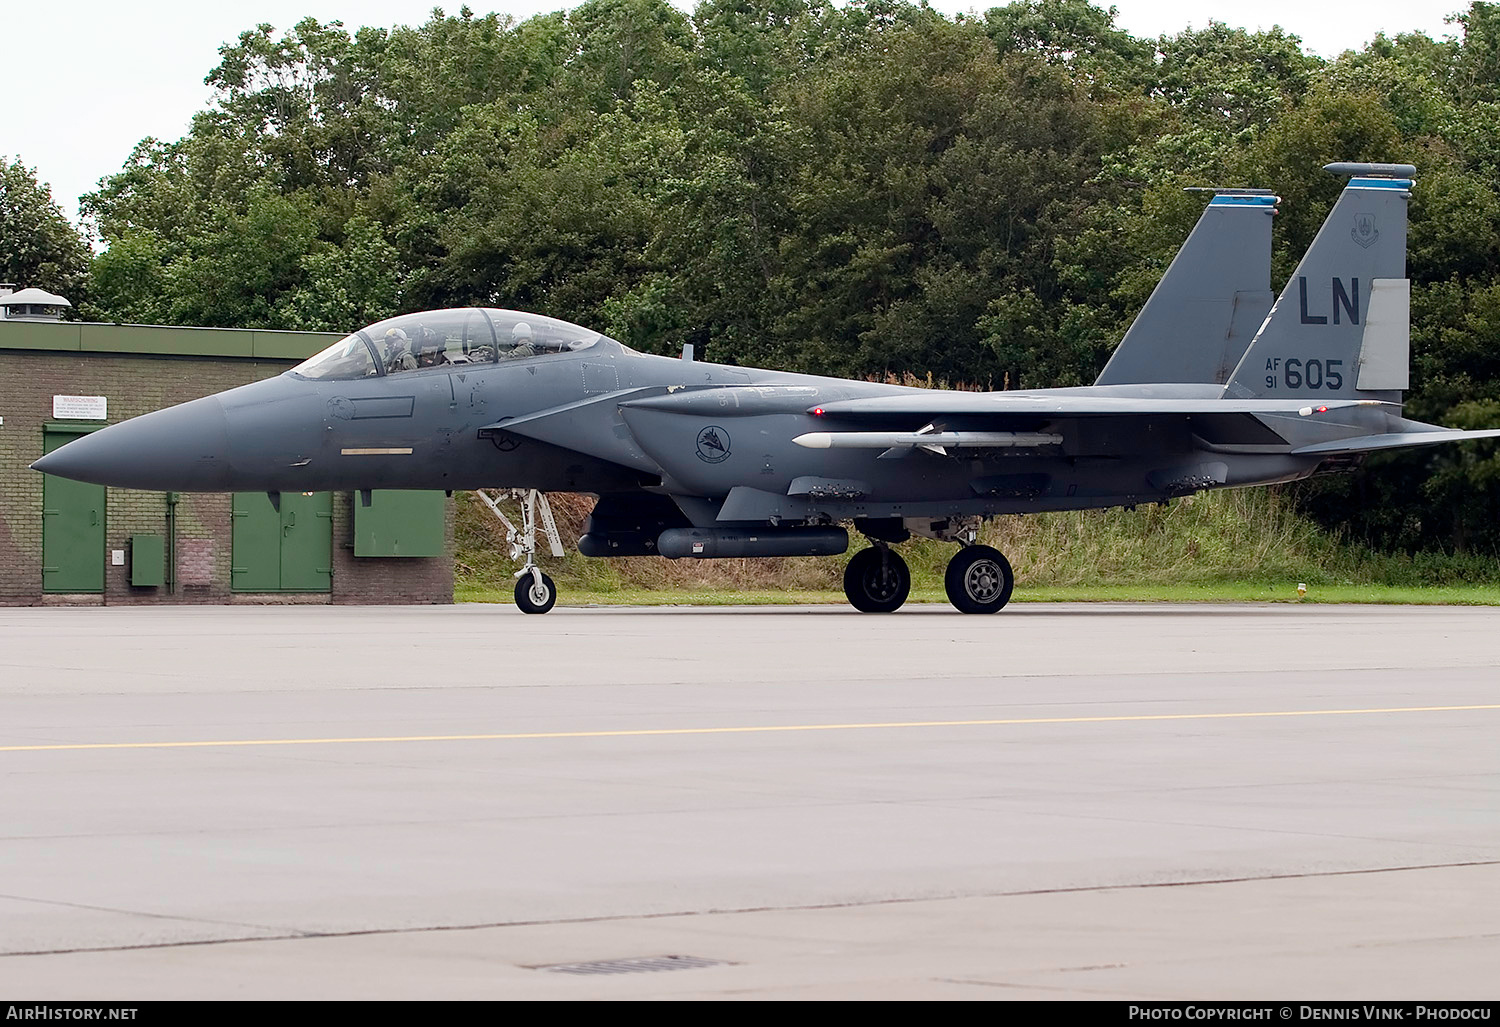
[[[915,906],[916,903],[945,903],[960,898],[1029,898],[1034,895],[1084,895],[1098,892],[1131,892],[1161,888],[1198,888],[1204,885],[1256,885],[1275,880],[1317,880],[1326,877],[1360,877],[1368,874],[1396,874],[1418,870],[1466,870],[1500,867],[1500,859],[1472,859],[1454,864],[1412,864],[1406,867],[1362,867],[1359,870],[1323,870],[1300,874],[1257,874],[1250,877],[1209,877],[1200,880],[1136,882],[1120,885],[1083,885],[1066,888],[1032,888],[1017,892],[976,892],[972,895],[902,895],[897,898],[874,898],[844,903],[796,903],[792,906],[742,906],[704,910],[668,910],[662,913],[606,913],[602,916],[560,916],[532,921],[494,921],[488,924],[429,924],[426,927],[375,927],[354,931],[297,931],[285,934],[261,934],[255,937],[194,939],[190,942],[144,942],[140,945],[74,946],[68,949],[32,949],[0,952],[0,960],[39,955],[82,955],[92,952],[135,952],[140,949],[195,949],[210,945],[236,945],[242,942],[312,942],[320,939],[388,937],[398,934],[436,934],[442,931],[492,931],[508,927],[561,927],[582,924],[620,924],[626,921],[670,921],[696,916],[740,916],[744,913],[812,913],[819,910],[872,909],[878,906]]]

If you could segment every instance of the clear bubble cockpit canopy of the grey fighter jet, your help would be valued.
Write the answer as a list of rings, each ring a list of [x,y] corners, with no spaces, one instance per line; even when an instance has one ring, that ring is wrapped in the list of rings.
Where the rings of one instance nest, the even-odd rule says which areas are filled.
[[[375,378],[426,367],[496,364],[588,349],[604,336],[556,318],[520,310],[459,307],[378,321],[309,357],[303,378]]]

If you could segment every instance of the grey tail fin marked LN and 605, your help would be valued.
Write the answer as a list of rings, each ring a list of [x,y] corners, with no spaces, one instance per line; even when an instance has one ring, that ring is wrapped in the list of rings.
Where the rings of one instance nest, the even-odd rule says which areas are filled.
[[[1407,202],[1416,168],[1330,163],[1354,175],[1230,378],[1226,396],[1378,399],[1408,384]]]

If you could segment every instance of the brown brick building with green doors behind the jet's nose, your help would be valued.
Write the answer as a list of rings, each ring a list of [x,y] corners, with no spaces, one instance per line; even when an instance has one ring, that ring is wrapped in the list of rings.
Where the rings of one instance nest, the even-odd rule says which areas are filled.
[[[0,292],[0,312],[6,297]],[[160,493],[30,469],[81,433],[279,375],[338,336],[0,316],[0,606],[452,603],[442,493]]]

